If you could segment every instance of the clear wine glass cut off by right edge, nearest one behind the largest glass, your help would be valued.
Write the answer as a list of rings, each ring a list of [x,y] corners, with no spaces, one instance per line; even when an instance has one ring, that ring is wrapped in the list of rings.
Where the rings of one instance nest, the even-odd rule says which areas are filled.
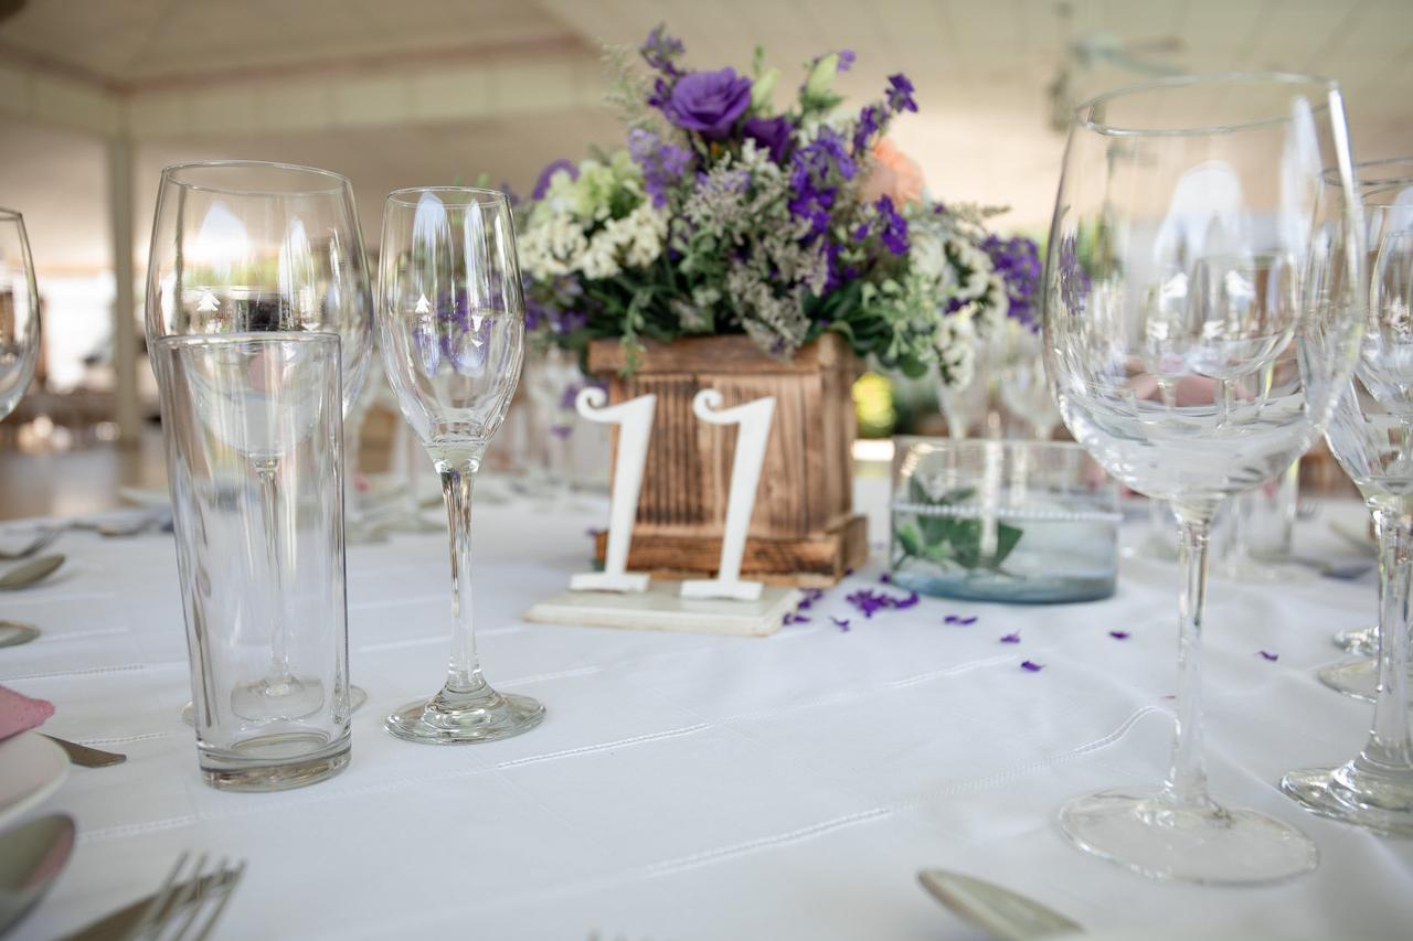
[[[1338,767],[1291,771],[1280,790],[1323,817],[1413,836],[1413,181],[1362,196],[1368,318],[1328,441],[1373,514],[1379,538],[1378,698],[1359,754]]]

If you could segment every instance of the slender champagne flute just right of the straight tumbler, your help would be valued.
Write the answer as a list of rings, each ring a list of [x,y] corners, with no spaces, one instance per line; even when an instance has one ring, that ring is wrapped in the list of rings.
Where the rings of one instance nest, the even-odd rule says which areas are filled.
[[[451,524],[447,682],[394,711],[386,728],[434,745],[519,735],[540,723],[544,706],[486,682],[471,620],[472,480],[524,360],[520,261],[504,194],[461,187],[389,194],[377,297],[387,380],[437,466]]]

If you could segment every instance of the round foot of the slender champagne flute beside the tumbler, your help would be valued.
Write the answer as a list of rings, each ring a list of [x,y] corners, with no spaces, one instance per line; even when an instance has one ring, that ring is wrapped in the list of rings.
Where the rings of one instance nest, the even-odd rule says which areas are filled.
[[[544,706],[530,697],[500,694],[489,685],[475,692],[442,690],[431,699],[408,702],[383,722],[400,739],[424,745],[495,742],[528,732],[544,719]]]

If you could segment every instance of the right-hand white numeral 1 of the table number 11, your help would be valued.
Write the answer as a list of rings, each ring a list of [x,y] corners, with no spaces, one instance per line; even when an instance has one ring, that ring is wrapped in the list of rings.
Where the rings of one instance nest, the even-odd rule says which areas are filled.
[[[740,581],[740,562],[746,554],[746,530],[756,509],[756,486],[766,461],[766,439],[776,414],[773,396],[747,401],[735,408],[721,408],[722,396],[704,389],[692,398],[692,413],[712,425],[739,425],[736,456],[731,463],[731,495],[726,499],[726,531],[721,540],[721,564],[716,578],[682,582],[682,598],[729,598],[757,600],[762,582]],[[719,410],[719,411],[718,411]]]

